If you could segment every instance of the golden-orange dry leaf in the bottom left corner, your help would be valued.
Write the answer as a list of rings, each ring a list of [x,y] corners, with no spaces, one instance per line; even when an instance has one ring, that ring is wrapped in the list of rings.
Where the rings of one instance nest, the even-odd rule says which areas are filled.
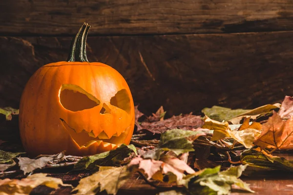
[[[8,178],[0,180],[0,195],[29,195],[35,187],[40,185],[54,189],[57,189],[58,185],[71,186],[63,184],[59,178],[46,177],[46,175],[46,173],[37,173],[21,180]]]

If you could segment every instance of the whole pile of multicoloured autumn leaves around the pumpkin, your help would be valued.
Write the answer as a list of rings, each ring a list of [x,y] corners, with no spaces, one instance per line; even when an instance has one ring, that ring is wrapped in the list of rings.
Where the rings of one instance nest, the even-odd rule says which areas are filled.
[[[214,106],[202,112],[166,119],[163,107],[151,116],[135,107],[131,144],[92,156],[60,151],[29,158],[24,152],[0,151],[0,194],[27,195],[45,185],[65,186],[77,195],[116,195],[134,177],[153,187],[169,186],[158,195],[226,195],[235,186],[254,193],[240,179],[247,169],[293,172],[293,162],[276,154],[293,149],[292,97],[251,110]],[[11,120],[17,110],[1,108],[0,113]],[[40,173],[60,167],[89,175],[71,186]],[[7,178],[13,175],[24,178]]]

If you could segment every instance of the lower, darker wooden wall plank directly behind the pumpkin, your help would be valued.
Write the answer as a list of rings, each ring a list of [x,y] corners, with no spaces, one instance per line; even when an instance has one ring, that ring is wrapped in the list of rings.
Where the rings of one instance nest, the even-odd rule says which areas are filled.
[[[293,96],[293,32],[90,37],[88,59],[117,69],[146,114],[255,108]],[[0,107],[18,108],[38,67],[64,61],[66,37],[0,37]]]

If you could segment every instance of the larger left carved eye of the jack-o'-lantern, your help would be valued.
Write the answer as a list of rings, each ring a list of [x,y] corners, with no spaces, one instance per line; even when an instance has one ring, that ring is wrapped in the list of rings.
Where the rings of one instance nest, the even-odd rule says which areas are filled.
[[[100,105],[100,101],[82,87],[72,84],[63,84],[59,91],[60,103],[63,108],[71,111],[80,111]]]

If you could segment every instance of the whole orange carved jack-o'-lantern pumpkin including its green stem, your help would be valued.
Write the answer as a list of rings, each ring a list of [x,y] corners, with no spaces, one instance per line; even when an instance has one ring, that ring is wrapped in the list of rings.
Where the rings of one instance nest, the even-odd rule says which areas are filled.
[[[19,126],[31,155],[89,155],[130,142],[134,105],[129,87],[114,68],[88,62],[89,28],[84,23],[73,39],[67,62],[42,66],[24,88]]]

